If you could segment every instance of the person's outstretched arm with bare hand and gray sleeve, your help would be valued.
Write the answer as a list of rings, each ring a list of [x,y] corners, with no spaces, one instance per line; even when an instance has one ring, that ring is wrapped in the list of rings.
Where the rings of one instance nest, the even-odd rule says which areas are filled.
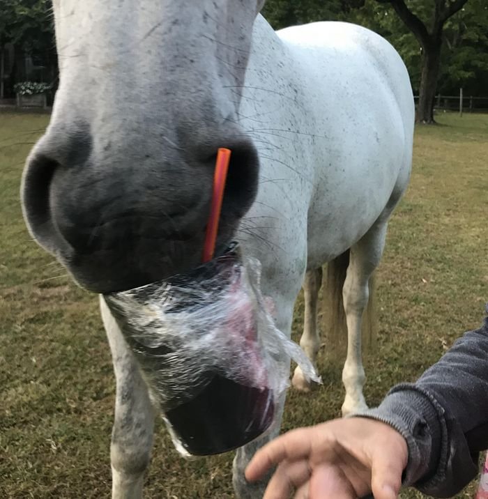
[[[454,495],[475,476],[477,453],[488,447],[488,321],[459,339],[417,383],[395,387],[379,408],[356,416],[274,440],[257,453],[247,477],[257,479],[280,464],[266,499],[287,497],[283,484],[288,490],[290,480],[299,493],[310,487],[310,499],[357,498],[368,480],[376,498],[389,499],[396,497],[405,468],[404,484],[434,496]],[[362,417],[376,420],[374,427],[353,434]],[[392,427],[397,431],[383,438]],[[399,434],[408,445],[408,461],[401,445],[390,445]],[[378,471],[385,455],[396,471]],[[343,488],[342,496],[331,492],[333,486]],[[383,486],[390,486],[393,495],[380,496]]]

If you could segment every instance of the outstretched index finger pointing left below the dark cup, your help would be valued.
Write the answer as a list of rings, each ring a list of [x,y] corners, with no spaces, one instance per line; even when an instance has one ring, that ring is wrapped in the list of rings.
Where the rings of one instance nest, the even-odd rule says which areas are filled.
[[[269,468],[285,459],[307,459],[312,448],[309,428],[289,431],[260,449],[247,465],[245,477],[250,482],[259,480]]]

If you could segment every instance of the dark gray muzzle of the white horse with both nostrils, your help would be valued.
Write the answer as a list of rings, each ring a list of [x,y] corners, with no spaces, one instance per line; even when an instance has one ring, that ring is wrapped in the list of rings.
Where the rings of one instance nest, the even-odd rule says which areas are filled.
[[[217,240],[223,248],[254,201],[259,164],[249,139],[219,145],[232,150]],[[22,200],[38,243],[97,293],[199,265],[217,146],[165,151],[160,160],[140,146],[112,148],[109,157],[93,151],[89,136],[70,141],[48,132],[31,153]]]

